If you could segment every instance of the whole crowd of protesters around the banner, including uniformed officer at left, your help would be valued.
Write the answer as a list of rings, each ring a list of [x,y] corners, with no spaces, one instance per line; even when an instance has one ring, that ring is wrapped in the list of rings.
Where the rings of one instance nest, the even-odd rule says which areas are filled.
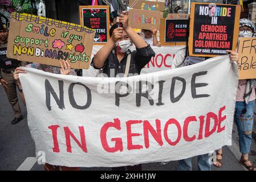
[[[0,48],[7,47],[8,30],[6,24],[0,22]],[[123,26],[120,27],[122,23]],[[111,39],[94,55],[91,65],[95,69],[101,69],[108,77],[116,76],[129,76],[129,74],[140,74],[141,69],[149,63],[152,57],[155,56],[155,52],[152,46],[161,47],[159,40],[157,40],[157,30],[152,27],[151,30],[143,30],[144,35],[138,35],[128,24],[128,16],[124,12],[120,16],[120,22],[115,23],[109,30]],[[241,19],[239,25],[239,37],[255,37],[256,28],[255,24],[248,19]],[[129,47],[134,44],[135,51],[131,51]],[[239,55],[236,51],[226,50],[230,55],[230,61],[234,61],[238,64]],[[11,123],[15,125],[23,119],[21,109],[18,104],[18,96],[16,88],[19,90],[19,94],[26,104],[26,101],[22,92],[22,85],[19,82],[19,73],[26,73],[21,67],[21,62],[17,60],[8,59],[6,56],[0,57],[1,59],[1,75],[0,82],[6,91],[7,98],[13,107],[15,118]],[[172,69],[188,66],[191,64],[200,63],[201,61],[207,61],[207,57],[200,57],[200,61],[194,62],[193,57],[188,56],[188,46],[181,49],[176,53],[172,62]],[[40,69],[45,72],[62,74],[62,75],[76,75],[76,72],[71,69],[68,61],[60,61],[60,67],[53,67],[50,65],[43,65],[38,63],[30,63],[23,65],[34,69]],[[113,73],[113,74],[112,74]],[[239,148],[241,152],[240,163],[250,171],[255,171],[253,163],[249,160],[249,151],[252,142],[252,130],[254,113],[253,108],[255,106],[255,84],[253,80],[239,80],[237,88],[237,100],[235,103],[234,122],[237,125],[239,134]],[[222,150],[221,148],[216,151],[216,162],[214,166],[222,167]],[[210,155],[204,154],[197,156],[197,164],[199,170],[211,170],[211,164],[209,162]],[[75,167],[63,167],[52,166],[50,164],[44,165],[45,170],[79,170]],[[113,170],[124,170],[125,167],[113,168]],[[141,164],[136,166],[128,166],[128,170],[141,170]],[[183,159],[178,161],[178,170],[192,170],[192,158]]]

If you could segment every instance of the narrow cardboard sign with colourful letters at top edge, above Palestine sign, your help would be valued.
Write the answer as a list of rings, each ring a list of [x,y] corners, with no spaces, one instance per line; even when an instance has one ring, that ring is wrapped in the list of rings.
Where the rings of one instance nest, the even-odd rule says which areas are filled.
[[[129,7],[139,10],[164,11],[165,3],[159,1],[130,0]]]

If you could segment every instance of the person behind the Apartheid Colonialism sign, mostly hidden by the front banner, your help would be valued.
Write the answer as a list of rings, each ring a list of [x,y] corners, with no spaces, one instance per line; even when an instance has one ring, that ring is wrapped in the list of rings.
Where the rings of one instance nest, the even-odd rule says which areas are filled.
[[[227,53],[230,53],[230,60],[238,62],[238,53],[235,51],[226,51]],[[194,56],[187,56],[188,55],[188,46],[184,49],[181,49],[178,51],[173,59],[172,67],[174,68],[180,68],[187,65],[192,65],[196,63],[200,63],[202,61],[205,61],[207,57],[194,57]],[[211,164],[209,162],[210,155],[204,154],[204,155],[198,155],[197,156],[197,167],[200,171],[210,171],[211,170]],[[192,171],[192,158],[188,159],[182,159],[178,161],[178,171]]]

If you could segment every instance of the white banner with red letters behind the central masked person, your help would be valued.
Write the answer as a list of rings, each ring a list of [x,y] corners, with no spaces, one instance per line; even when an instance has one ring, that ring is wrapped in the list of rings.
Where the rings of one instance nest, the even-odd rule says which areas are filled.
[[[94,55],[96,55],[101,47],[103,46],[92,47],[91,57],[94,57]],[[155,51],[156,56],[152,57],[151,61],[149,61],[149,63],[143,69],[141,69],[140,74],[142,75],[145,73],[152,73],[170,69],[176,52],[184,47],[185,46],[153,46],[152,49]],[[131,47],[131,51],[134,51],[135,49],[135,46]],[[86,77],[96,77],[98,73],[99,70],[94,69],[94,67],[90,67],[89,69],[83,69],[83,76]]]

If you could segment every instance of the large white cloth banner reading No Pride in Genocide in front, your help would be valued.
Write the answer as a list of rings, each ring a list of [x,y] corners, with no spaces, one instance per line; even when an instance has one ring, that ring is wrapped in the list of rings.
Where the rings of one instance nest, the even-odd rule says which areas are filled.
[[[228,55],[122,78],[25,70],[27,120],[46,163],[117,167],[231,145],[238,71]]]

